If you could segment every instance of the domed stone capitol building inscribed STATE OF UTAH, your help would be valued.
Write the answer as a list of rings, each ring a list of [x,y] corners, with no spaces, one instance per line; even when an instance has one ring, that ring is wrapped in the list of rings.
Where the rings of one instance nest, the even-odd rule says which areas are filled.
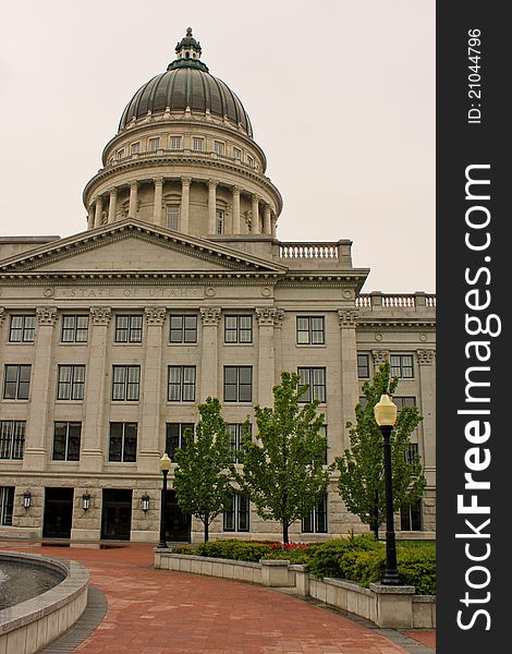
[[[270,110],[270,109],[269,109]],[[412,435],[424,497],[399,537],[435,532],[435,296],[364,289],[350,239],[282,242],[282,197],[241,100],[187,29],[175,59],[121,114],[85,186],[84,231],[0,238],[0,537],[157,543],[163,452],[218,397],[233,448],[282,371],[320,401],[332,461],[383,361],[394,401],[418,407]],[[172,489],[168,540],[203,524]],[[294,541],[366,531],[336,475]],[[210,538],[280,538],[233,494]]]

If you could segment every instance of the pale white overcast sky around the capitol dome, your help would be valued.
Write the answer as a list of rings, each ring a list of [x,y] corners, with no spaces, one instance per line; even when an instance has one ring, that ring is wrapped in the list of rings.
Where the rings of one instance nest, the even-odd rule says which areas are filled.
[[[25,0],[0,38],[0,234],[86,227],[82,191],[187,26],[241,98],[281,241],[351,239],[364,291],[435,291],[435,0]]]

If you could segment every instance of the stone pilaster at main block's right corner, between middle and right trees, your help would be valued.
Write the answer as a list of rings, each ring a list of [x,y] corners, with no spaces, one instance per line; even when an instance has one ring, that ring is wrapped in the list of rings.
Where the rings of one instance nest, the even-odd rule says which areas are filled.
[[[338,310],[338,316],[341,329],[341,425],[343,438],[345,438],[344,425],[346,421],[355,422],[355,405],[359,401],[357,343],[355,338],[357,311],[355,308],[340,308]],[[331,415],[329,415],[329,421],[332,422]],[[348,446],[349,441],[346,439],[342,444],[342,450]],[[341,455],[341,451],[332,451],[332,455]]]

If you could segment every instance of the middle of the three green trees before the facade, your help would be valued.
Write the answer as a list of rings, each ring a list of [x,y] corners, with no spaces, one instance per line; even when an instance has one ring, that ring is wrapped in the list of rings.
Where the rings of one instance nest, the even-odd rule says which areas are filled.
[[[307,390],[300,382],[298,375],[283,372],[273,387],[273,408],[255,408],[256,439],[245,422],[239,455],[244,471],[236,476],[258,516],[281,522],[284,543],[290,525],[307,516],[329,483],[327,438],[319,433],[324,416],[317,413],[318,401],[300,403]]]

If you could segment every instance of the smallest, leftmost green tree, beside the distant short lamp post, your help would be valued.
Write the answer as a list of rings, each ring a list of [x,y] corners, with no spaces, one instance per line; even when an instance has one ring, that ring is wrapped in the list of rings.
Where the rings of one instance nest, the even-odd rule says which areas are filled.
[[[174,491],[180,508],[198,518],[205,526],[205,543],[212,520],[229,498],[234,472],[228,427],[217,398],[198,407],[200,420],[195,438],[185,432],[185,447],[174,456]]]

